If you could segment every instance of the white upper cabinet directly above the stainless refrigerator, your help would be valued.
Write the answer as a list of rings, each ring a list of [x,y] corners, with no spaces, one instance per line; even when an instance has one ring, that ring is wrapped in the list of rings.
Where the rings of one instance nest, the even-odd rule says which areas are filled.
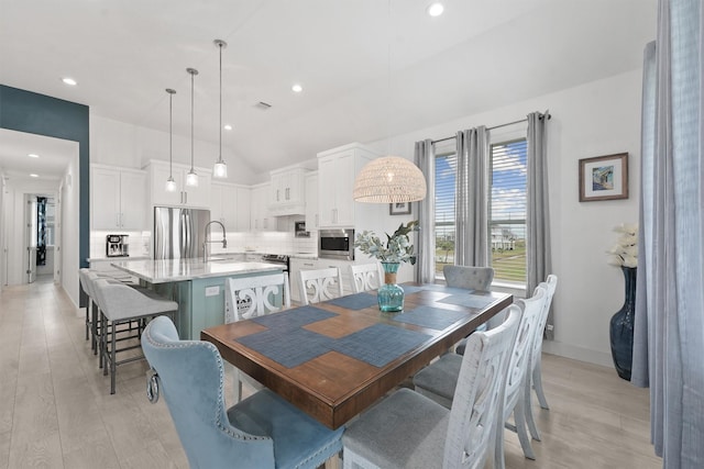
[[[186,175],[189,166],[173,165],[173,177],[176,181],[174,192],[166,191],[166,180],[169,176],[168,161],[152,160],[146,166],[150,172],[152,205],[194,206],[199,209],[210,208],[210,180],[209,169],[195,168],[198,175],[198,186],[186,186]]]

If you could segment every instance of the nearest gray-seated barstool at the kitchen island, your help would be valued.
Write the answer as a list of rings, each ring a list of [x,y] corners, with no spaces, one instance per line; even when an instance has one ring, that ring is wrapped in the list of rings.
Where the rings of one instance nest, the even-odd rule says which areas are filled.
[[[142,333],[147,319],[162,314],[169,315],[175,320],[178,311],[178,303],[166,300],[163,297],[144,288],[132,288],[123,283],[114,283],[108,279],[99,278],[94,282],[96,299],[100,308],[100,335],[99,347],[102,359],[105,359],[103,375],[108,375],[108,365],[110,366],[110,394],[114,394],[116,370],[118,365],[135,361],[144,358],[143,355],[129,357],[123,360],[117,360],[119,351],[132,350],[140,348],[139,345],[124,346],[118,349],[118,342],[129,338],[139,337]],[[119,327],[122,324],[129,324],[138,321],[136,335],[118,338]],[[132,327],[124,332],[130,333]],[[108,340],[108,336],[110,339]],[[110,345],[108,345],[108,342]],[[101,360],[102,361],[102,360]]]

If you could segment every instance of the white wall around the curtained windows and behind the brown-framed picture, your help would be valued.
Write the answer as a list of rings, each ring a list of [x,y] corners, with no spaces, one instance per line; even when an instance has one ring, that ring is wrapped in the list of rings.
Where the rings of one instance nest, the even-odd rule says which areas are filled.
[[[550,110],[548,158],[553,272],[554,340],[544,350],[613,366],[608,322],[624,302],[622,272],[606,264],[613,227],[638,220],[641,70],[553,92],[477,115],[370,144],[413,159],[414,142],[439,139],[477,125],[498,125]],[[496,131],[495,131],[496,132]],[[510,129],[502,132],[510,132]],[[579,202],[579,159],[628,152],[629,199]],[[417,216],[389,217],[387,230]]]

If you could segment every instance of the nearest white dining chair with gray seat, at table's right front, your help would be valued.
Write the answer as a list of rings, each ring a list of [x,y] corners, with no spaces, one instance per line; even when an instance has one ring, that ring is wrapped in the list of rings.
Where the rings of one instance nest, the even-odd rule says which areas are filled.
[[[400,389],[350,423],[344,468],[483,468],[519,321],[512,305],[501,326],[470,337],[451,410]]]

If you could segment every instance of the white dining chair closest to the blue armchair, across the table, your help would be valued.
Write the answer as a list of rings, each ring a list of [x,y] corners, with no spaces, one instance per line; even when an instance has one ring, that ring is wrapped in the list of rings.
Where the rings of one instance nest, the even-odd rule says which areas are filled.
[[[288,273],[272,273],[255,277],[228,278],[224,295],[226,324],[251,320],[265,314],[290,308],[290,287]],[[283,295],[280,303],[278,298]],[[234,402],[242,399],[242,383],[246,382],[255,390],[264,386],[237,367],[233,370]]]

